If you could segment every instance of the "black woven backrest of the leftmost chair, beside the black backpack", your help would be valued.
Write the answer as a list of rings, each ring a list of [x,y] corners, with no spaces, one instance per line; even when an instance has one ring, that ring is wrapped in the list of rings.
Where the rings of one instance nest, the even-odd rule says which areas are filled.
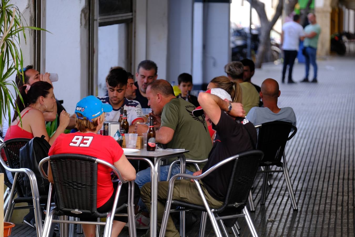
[[[10,168],[13,168],[13,169],[21,168],[21,166],[20,166],[20,149],[21,149],[21,147],[26,145],[26,143],[29,140],[31,140],[31,139],[13,138],[13,139],[9,139],[7,141],[4,141],[4,143],[6,144],[4,146],[4,151],[5,151],[5,155],[7,158],[7,163],[9,164]],[[13,178],[15,177],[15,173],[12,173],[12,177]],[[22,182],[21,177],[22,177],[22,173],[18,173],[15,188],[16,188],[17,196],[19,196],[19,197],[23,196],[21,188],[20,188],[20,184]]]

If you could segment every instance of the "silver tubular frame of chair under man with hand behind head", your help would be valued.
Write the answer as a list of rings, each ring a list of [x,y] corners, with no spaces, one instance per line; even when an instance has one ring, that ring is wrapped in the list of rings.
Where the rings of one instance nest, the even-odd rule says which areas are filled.
[[[208,174],[213,172],[215,169],[225,165],[226,163],[231,162],[233,160],[237,160],[240,157],[252,156],[252,155],[260,155],[262,157],[262,152],[253,150],[253,151],[242,152],[242,153],[240,153],[238,155],[235,155],[235,156],[231,156],[229,158],[226,158],[223,161],[220,161],[219,163],[217,163],[216,165],[212,166],[207,171],[205,171],[203,174],[200,174],[198,176],[192,176],[192,175],[189,175],[189,174],[175,174],[173,177],[171,177],[171,179],[169,181],[168,197],[167,197],[167,200],[166,200],[166,206],[165,206],[165,211],[164,211],[164,216],[163,216],[163,221],[162,221],[162,226],[161,226],[161,229],[160,229],[159,237],[164,237],[165,236],[166,226],[167,226],[167,223],[168,223],[168,218],[169,218],[170,212],[193,210],[193,209],[170,210],[171,204],[172,204],[172,201],[173,201],[172,199],[173,199],[174,183],[175,183],[175,180],[177,178],[179,178],[179,177],[186,178],[186,179],[192,179],[195,182],[196,188],[197,188],[197,190],[198,190],[198,192],[199,192],[199,194],[200,194],[200,196],[202,198],[202,202],[203,202],[204,208],[206,209],[206,212],[203,212],[203,214],[202,214],[200,235],[199,235],[200,237],[204,236],[204,231],[205,231],[205,228],[206,228],[207,215],[209,216],[209,219],[211,220],[215,235],[218,236],[218,237],[222,237],[222,233],[221,233],[221,231],[220,231],[220,229],[218,227],[218,222],[217,221],[219,221],[222,224],[223,232],[225,234],[227,234],[225,226],[223,224],[223,220],[224,219],[235,218],[235,217],[245,217],[245,219],[247,221],[247,224],[248,224],[248,227],[249,227],[249,229],[251,231],[252,236],[253,237],[257,237],[258,236],[257,232],[255,230],[255,227],[253,225],[253,222],[251,220],[249,212],[248,212],[248,210],[247,210],[247,208],[245,206],[245,203],[234,204],[235,207],[244,205],[244,208],[242,209],[242,212],[243,212],[242,214],[228,215],[228,216],[218,216],[218,213],[215,213],[217,211],[217,209],[210,209],[209,208],[207,200],[204,197],[203,191],[201,189],[201,185],[200,185],[200,183],[198,183],[198,180],[206,177]],[[217,215],[217,217],[215,216],[215,214]],[[232,231],[234,233],[236,233],[236,234],[239,232],[238,228],[236,228],[236,224],[232,227]],[[180,235],[184,236],[185,233],[180,233]],[[228,234],[227,234],[227,236],[228,236]]]

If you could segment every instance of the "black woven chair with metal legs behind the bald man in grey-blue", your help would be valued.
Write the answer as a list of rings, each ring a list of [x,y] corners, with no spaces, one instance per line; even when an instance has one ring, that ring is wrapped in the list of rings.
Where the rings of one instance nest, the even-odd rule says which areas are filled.
[[[293,210],[297,211],[297,203],[292,190],[292,183],[288,173],[287,161],[284,152],[286,142],[293,138],[297,132],[297,128],[293,124],[283,121],[263,123],[255,127],[259,128],[257,149],[264,152],[264,158],[261,160],[259,166],[265,167],[264,170],[258,171],[258,173],[264,173],[260,204],[265,204],[268,174],[272,172],[283,172]],[[293,129],[293,133],[289,135],[291,129]],[[283,158],[283,162],[281,161],[281,158]],[[274,165],[281,167],[281,170],[270,170],[270,166]],[[255,211],[251,193],[249,196],[249,204],[251,211]]]

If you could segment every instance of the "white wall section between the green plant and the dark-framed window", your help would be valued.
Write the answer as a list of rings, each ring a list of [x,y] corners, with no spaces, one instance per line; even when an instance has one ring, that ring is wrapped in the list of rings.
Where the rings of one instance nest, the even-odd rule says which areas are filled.
[[[86,1],[47,1],[46,71],[58,73],[54,82],[57,99],[74,113],[76,103],[87,95],[88,31]]]

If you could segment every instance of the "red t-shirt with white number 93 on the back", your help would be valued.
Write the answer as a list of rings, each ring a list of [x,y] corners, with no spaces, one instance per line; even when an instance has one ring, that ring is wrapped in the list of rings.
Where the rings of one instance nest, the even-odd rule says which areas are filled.
[[[123,155],[120,145],[111,137],[94,133],[60,134],[49,149],[48,155],[77,153],[97,157],[110,164]],[[112,169],[101,164],[97,166],[97,208],[104,205],[113,194]]]

